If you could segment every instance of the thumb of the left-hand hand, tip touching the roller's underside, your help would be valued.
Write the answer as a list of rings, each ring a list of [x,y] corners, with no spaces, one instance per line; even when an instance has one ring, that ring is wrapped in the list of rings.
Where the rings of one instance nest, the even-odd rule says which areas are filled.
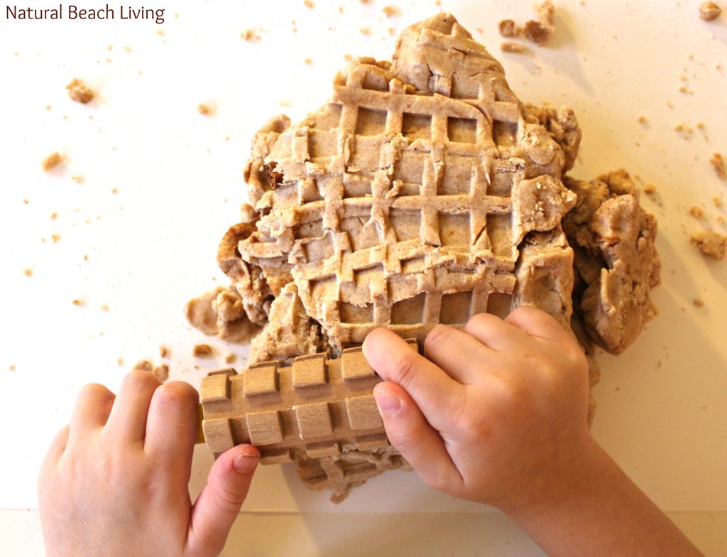
[[[260,452],[252,445],[234,446],[220,454],[207,476],[190,516],[187,553],[217,555],[247,497]]]

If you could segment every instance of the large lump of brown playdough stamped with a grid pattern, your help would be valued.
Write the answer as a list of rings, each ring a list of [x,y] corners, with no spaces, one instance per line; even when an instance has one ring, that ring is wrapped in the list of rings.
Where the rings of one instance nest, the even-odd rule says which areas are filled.
[[[533,305],[578,338],[595,385],[593,341],[617,353],[635,339],[659,260],[656,223],[625,172],[564,177],[580,138],[569,109],[523,105],[454,17],[411,25],[393,62],[352,60],[318,111],[296,124],[276,116],[255,135],[252,207],[217,255],[233,284],[190,302],[188,318],[228,340],[264,326],[248,377],[315,353],[345,358],[377,326],[421,343],[438,324]],[[287,404],[266,412],[287,415]],[[292,443],[289,420],[273,422]],[[286,455],[337,500],[401,463],[388,445]]]

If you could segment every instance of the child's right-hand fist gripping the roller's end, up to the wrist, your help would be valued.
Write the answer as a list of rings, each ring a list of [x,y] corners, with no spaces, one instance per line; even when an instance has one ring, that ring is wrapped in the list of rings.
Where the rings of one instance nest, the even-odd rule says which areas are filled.
[[[583,350],[547,313],[473,316],[433,329],[425,356],[377,329],[364,342],[385,379],[374,390],[386,433],[419,476],[505,512],[568,496],[589,457]]]

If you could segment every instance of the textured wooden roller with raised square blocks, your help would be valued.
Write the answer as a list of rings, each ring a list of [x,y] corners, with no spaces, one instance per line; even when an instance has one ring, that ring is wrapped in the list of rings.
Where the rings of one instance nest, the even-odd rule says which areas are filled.
[[[414,350],[415,340],[407,340]],[[382,379],[361,347],[340,358],[301,356],[292,366],[267,361],[238,374],[209,372],[202,380],[202,429],[215,457],[240,443],[257,446],[263,464],[321,458],[343,445],[378,449],[388,441],[374,401]]]

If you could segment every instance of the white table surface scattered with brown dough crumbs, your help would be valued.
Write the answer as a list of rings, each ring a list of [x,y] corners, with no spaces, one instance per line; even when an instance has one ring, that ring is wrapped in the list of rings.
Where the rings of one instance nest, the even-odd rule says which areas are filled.
[[[403,15],[384,17],[381,8],[388,4]],[[718,67],[727,65],[727,15],[705,23],[697,15],[698,1],[555,4],[553,42],[529,47],[526,55],[499,52],[497,22],[531,17],[530,1],[443,0],[438,8],[433,1],[318,0],[314,9],[302,1],[189,1],[165,6],[163,25],[20,22],[0,13],[6,292],[0,322],[0,508],[36,506],[39,462],[67,422],[81,385],[103,382],[116,389],[135,361],[159,361],[159,345],[171,350],[172,379],[196,386],[206,369],[222,366],[229,351],[244,366],[245,348],[191,330],[182,307],[189,297],[225,284],[214,257],[245,199],[241,168],[252,134],[274,113],[296,120],[323,103],[345,53],[390,58],[395,38],[387,28],[398,33],[443,9],[502,61],[521,100],[574,108],[584,139],[572,175],[590,178],[625,167],[657,186],[655,199],[642,201],[659,220],[664,269],[654,300],[660,315],[622,356],[599,358],[603,375],[595,390],[593,433],[661,508],[722,516],[727,262],[705,260],[689,245],[688,234],[726,231],[716,217],[727,215],[712,197],[724,199],[727,183],[718,180],[708,159],[715,151],[727,155],[727,69]],[[358,31],[364,26],[369,35]],[[260,33],[260,41],[240,39],[248,28]],[[73,78],[96,89],[98,100],[71,102],[65,85]],[[682,85],[691,92],[680,92]],[[201,116],[199,103],[216,107],[214,114]],[[639,116],[648,123],[640,124]],[[690,139],[674,131],[681,122],[695,128]],[[698,122],[703,131],[696,129]],[[41,172],[40,161],[53,151],[63,153],[64,164]],[[83,182],[71,180],[73,175]],[[703,207],[703,219],[687,214],[694,205]],[[53,234],[60,234],[57,242]],[[24,275],[26,268],[33,276]],[[697,308],[695,298],[704,307]],[[84,300],[84,307],[72,305],[73,299]],[[192,358],[190,348],[198,342],[209,342],[214,357]],[[193,492],[210,462],[198,447]],[[314,540],[331,534],[310,526],[314,519],[307,516],[337,516],[344,529],[348,520],[355,538],[353,525],[362,513],[429,513],[427,520],[445,524],[463,513],[489,512],[433,492],[411,473],[388,473],[335,506],[325,494],[302,488],[284,467],[262,468],[246,510],[302,516],[285,528],[308,528]],[[1,513],[0,525],[18,516]],[[381,527],[388,528],[385,522]],[[0,540],[12,542],[2,532]],[[496,545],[495,539],[530,543],[514,527],[493,532]],[[360,543],[371,542],[366,539]],[[467,536],[461,539],[462,548],[475,547]],[[477,540],[481,547],[483,540]],[[523,552],[502,545],[497,554]]]

